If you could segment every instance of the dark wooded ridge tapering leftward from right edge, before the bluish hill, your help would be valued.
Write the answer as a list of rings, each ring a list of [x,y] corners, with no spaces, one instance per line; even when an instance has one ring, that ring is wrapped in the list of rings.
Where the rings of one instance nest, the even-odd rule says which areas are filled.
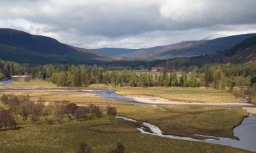
[[[256,35],[249,37],[236,44],[228,50],[212,55],[201,55],[193,57],[171,58],[167,60],[151,61],[149,67],[168,67],[168,69],[178,69],[197,65],[201,67],[205,63],[256,63]]]

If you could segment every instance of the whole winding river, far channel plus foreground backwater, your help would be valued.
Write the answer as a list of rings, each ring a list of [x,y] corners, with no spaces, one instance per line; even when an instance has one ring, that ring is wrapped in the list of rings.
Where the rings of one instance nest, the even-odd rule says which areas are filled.
[[[1,84],[12,84],[12,80],[4,80],[0,81],[0,87]],[[11,88],[0,88],[0,90],[55,90],[55,89],[11,89]],[[59,90],[61,92],[63,90]],[[103,97],[105,99],[115,99],[118,101],[126,101],[130,103],[136,103],[136,104],[143,104],[143,105],[152,105],[152,103],[146,103],[145,101],[136,101],[130,97],[120,96],[116,95],[115,91],[113,90],[76,90],[79,92],[91,92],[96,95],[99,95],[100,97]],[[220,107],[256,107],[255,105],[248,105],[250,101],[248,99],[240,98],[241,104],[239,105],[232,105],[232,104],[207,104],[204,106],[220,106]],[[247,104],[247,105],[246,105]],[[154,103],[154,105],[164,105],[162,103]],[[171,104],[174,105],[174,104]],[[177,105],[202,105],[202,104],[196,104],[196,103],[182,103]],[[133,120],[131,118],[126,118],[124,116],[117,116],[119,119],[128,120],[130,122],[137,122],[137,120]],[[150,124],[149,122],[143,122],[144,126],[147,126],[148,128],[153,131],[153,133],[149,133],[145,131],[142,128],[138,128],[141,133],[149,134],[149,135],[156,135],[158,137],[165,137],[169,139],[183,139],[188,141],[202,141],[206,143],[215,143],[215,144],[221,144],[224,146],[232,146],[236,148],[242,148],[245,150],[251,150],[253,152],[256,152],[256,116],[248,116],[248,118],[245,118],[239,126],[237,126],[235,129],[233,129],[233,133],[236,137],[239,137],[239,140],[236,139],[230,139],[225,137],[213,137],[213,136],[207,136],[207,139],[195,139],[191,137],[180,137],[176,135],[163,135],[162,131],[158,128],[158,126],[155,126],[153,124]],[[197,133],[195,133],[197,135]],[[200,135],[203,136],[203,135]],[[212,137],[211,139],[208,139],[208,137]]]

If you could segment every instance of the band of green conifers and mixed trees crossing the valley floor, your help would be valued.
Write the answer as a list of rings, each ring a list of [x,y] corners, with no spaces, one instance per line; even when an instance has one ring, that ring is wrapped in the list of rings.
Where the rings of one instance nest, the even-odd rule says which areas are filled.
[[[189,66],[171,69],[162,73],[137,72],[133,69],[109,71],[96,65],[30,65],[0,61],[0,79],[12,75],[31,75],[51,81],[57,86],[89,86],[106,84],[111,86],[182,86],[225,88],[250,86],[256,82],[256,67],[253,64],[216,64],[201,67]]]

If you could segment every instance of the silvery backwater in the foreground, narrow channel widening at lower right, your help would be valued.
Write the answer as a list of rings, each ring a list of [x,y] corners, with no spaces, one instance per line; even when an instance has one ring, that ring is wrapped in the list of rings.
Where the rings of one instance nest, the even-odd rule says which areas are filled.
[[[130,122],[137,122],[137,120],[133,120],[131,118],[126,118],[123,116],[117,116],[116,118],[120,118],[123,120],[128,120]],[[144,131],[142,128],[137,128],[141,133],[148,134],[148,135],[156,135],[158,137],[166,137],[170,139],[183,139],[188,141],[201,141],[206,143],[214,143],[214,144],[221,144],[224,146],[232,146],[236,148],[242,148],[245,150],[251,150],[253,152],[256,152],[256,117],[255,116],[249,116],[248,118],[245,118],[244,121],[240,126],[237,126],[235,129],[233,129],[234,135],[239,137],[240,140],[236,139],[230,139],[225,137],[213,137],[213,136],[206,136],[205,137],[212,137],[213,139],[194,139],[191,137],[180,137],[175,135],[163,135],[162,131],[158,128],[158,126],[155,126],[153,124],[150,124],[148,122],[143,122],[144,126],[147,126],[153,131],[153,133],[149,133],[147,131]],[[195,135],[197,135],[195,133]],[[204,135],[201,135],[204,136]]]

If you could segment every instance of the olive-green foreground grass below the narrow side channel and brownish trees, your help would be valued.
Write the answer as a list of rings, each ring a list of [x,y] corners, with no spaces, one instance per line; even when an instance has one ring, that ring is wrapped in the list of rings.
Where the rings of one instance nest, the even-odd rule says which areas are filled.
[[[126,153],[248,152],[209,143],[143,135],[132,129],[132,126],[130,126],[130,131],[127,131],[126,126],[120,126],[123,124],[122,122],[116,122],[103,117],[54,125],[29,124],[19,130],[0,131],[0,152],[74,153],[79,145],[85,142],[91,146],[95,153],[104,153],[115,148],[118,141],[124,144]],[[111,124],[110,130],[106,128],[108,124]],[[103,132],[100,130],[100,126],[104,129]],[[91,127],[94,129],[89,130]]]

